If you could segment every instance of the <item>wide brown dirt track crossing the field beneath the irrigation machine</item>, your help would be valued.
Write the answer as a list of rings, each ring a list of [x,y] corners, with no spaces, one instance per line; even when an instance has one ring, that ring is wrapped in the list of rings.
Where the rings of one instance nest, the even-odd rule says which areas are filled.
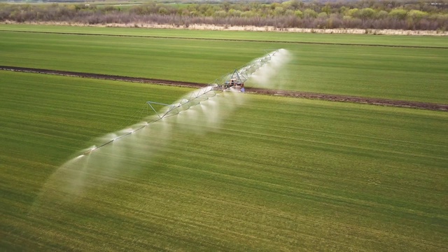
[[[204,86],[208,85],[206,83],[190,83],[190,82],[184,82],[184,81],[160,80],[160,79],[154,79],[154,78],[138,78],[138,77],[114,76],[114,75],[98,74],[98,73],[79,73],[79,72],[73,72],[73,71],[34,69],[34,68],[26,68],[26,67],[18,67],[18,66],[0,66],[0,70],[20,71],[20,72],[27,72],[27,73],[44,73],[44,74],[53,74],[53,75],[59,75],[59,76],[71,76],[71,77],[80,77],[80,78],[120,80],[120,81],[134,82],[134,83],[154,83],[154,84],[161,84],[161,85],[174,85],[174,86],[178,86],[178,87],[204,87]],[[432,110],[432,111],[448,111],[448,104],[408,102],[408,101],[391,100],[391,99],[351,97],[351,96],[344,96],[344,95],[338,95],[338,94],[295,92],[295,91],[287,91],[287,90],[268,90],[268,89],[253,88],[253,87],[246,87],[246,92],[252,93],[252,94],[267,94],[267,95],[276,95],[276,96],[282,96],[282,97],[319,99],[319,100],[332,101],[332,102],[351,102],[351,103],[358,103],[358,104],[372,104],[372,105],[379,105],[379,106],[393,106],[393,107],[402,107],[402,108],[411,108],[411,109],[426,109],[426,110]]]

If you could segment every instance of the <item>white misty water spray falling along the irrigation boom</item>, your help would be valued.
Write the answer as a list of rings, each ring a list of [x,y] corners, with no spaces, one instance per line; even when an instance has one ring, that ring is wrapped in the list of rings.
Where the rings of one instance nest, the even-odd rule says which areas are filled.
[[[257,78],[275,76],[276,70],[286,62],[283,59],[287,55],[286,50],[269,52],[213,83],[193,90],[172,104],[142,104],[141,111],[146,111],[146,114],[141,112],[139,118],[132,118],[133,123],[139,120],[136,124],[120,126],[119,131],[96,139],[99,144],[87,146],[58,167],[45,181],[30,214],[47,218],[47,210],[52,206],[71,206],[87,200],[94,192],[92,189],[99,189],[99,185],[113,182],[122,175],[139,174],[141,168],[151,165],[146,161],[157,162],[152,159],[165,151],[170,153],[168,144],[172,141],[188,141],[191,136],[204,137],[207,132],[221,128],[219,123],[249,98],[237,92],[241,89],[230,87],[229,80],[247,80],[248,83],[255,80],[258,84]],[[141,118],[142,115],[145,118]],[[151,127],[146,127],[148,125]],[[71,213],[69,208],[66,211]],[[59,217],[64,218],[64,211]]]

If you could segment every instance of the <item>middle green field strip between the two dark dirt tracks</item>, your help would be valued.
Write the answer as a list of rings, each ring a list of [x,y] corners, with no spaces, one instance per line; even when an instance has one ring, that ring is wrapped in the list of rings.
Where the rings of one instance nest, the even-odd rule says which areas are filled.
[[[211,83],[268,48],[286,48],[293,60],[272,88],[448,101],[446,49],[0,32],[2,65]]]

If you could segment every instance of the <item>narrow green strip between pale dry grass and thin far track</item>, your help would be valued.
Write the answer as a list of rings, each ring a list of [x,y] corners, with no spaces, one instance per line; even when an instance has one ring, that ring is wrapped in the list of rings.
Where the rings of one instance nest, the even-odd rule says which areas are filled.
[[[240,39],[303,43],[344,43],[367,45],[435,46],[448,48],[447,36],[372,36],[356,34],[304,34],[274,31],[200,31],[179,29],[141,29],[117,27],[71,27],[58,25],[0,25],[3,31],[44,31],[125,36]]]

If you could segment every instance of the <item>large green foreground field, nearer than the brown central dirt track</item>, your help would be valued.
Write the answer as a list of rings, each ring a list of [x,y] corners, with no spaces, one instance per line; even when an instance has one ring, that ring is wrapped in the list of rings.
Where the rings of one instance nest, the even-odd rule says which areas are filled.
[[[120,153],[118,170],[87,173],[103,183],[83,197],[30,214],[41,189],[57,193],[45,181],[92,138],[120,129],[148,99],[169,103],[189,90],[0,78],[2,250],[447,247],[447,113],[246,95],[219,127],[173,117],[169,142],[148,143],[160,147],[153,155]]]

